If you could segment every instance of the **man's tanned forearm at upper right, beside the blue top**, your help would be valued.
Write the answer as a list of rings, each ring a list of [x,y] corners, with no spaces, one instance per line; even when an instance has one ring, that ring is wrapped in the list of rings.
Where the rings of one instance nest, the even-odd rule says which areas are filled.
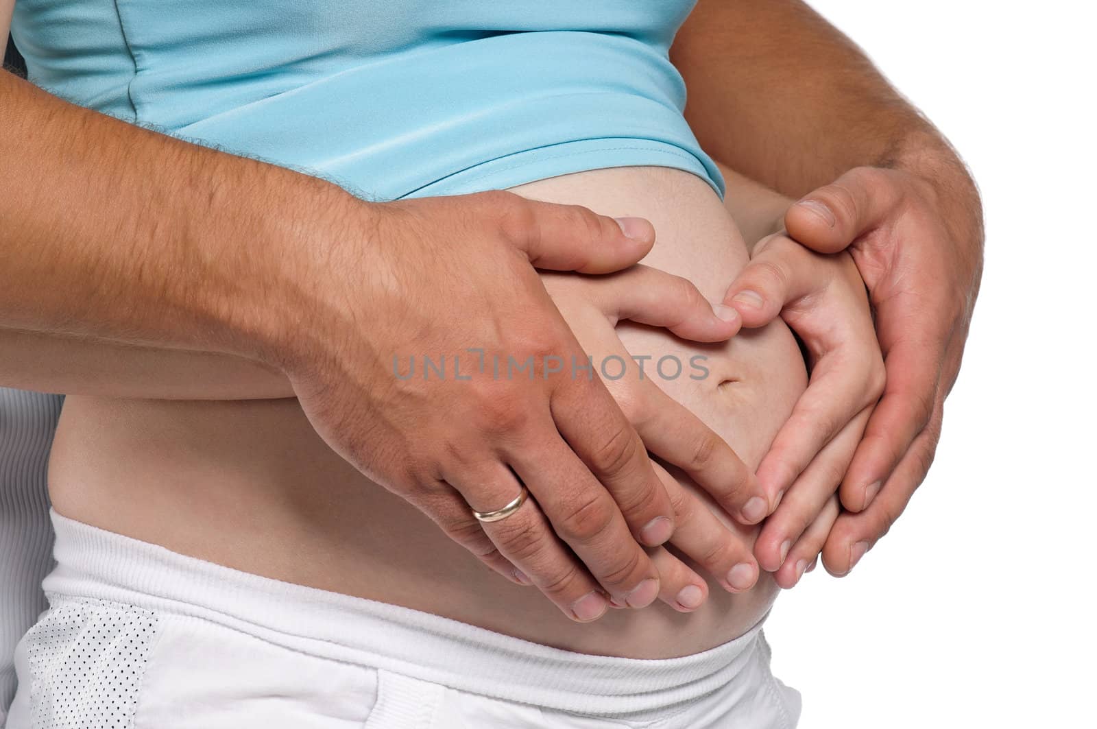
[[[783,194],[861,166],[931,165],[966,178],[934,125],[799,0],[700,0],[670,58],[702,147]]]

